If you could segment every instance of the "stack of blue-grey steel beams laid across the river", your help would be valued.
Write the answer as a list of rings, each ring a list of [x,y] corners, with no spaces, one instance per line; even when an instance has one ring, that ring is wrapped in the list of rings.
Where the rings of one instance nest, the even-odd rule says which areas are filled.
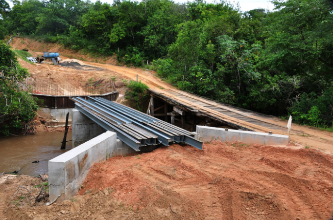
[[[202,141],[194,134],[138,110],[103,98],[71,98],[75,108],[136,151],[139,147],[169,142],[185,142],[202,150]]]

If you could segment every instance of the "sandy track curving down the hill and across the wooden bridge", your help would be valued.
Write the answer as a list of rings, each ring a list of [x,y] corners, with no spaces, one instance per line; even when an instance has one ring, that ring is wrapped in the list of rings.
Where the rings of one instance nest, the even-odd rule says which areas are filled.
[[[215,117],[222,118],[223,120],[231,121],[240,126],[244,126],[247,128],[252,128],[254,131],[258,132],[269,132],[277,134],[287,135],[286,124],[287,121],[282,121],[281,119],[273,116],[267,116],[262,114],[256,114],[255,112],[245,112],[244,110],[240,110],[238,108],[233,108],[230,106],[224,106],[223,104],[216,103],[212,100],[205,99],[203,97],[196,96],[194,94],[190,94],[188,92],[180,91],[176,88],[173,88],[166,82],[162,81],[160,78],[156,76],[156,73],[153,71],[144,71],[140,68],[129,68],[123,66],[112,66],[105,64],[96,64],[92,62],[85,62],[88,65],[96,66],[100,68],[105,68],[113,72],[116,76],[136,80],[137,74],[139,76],[139,80],[145,83],[149,88],[154,91],[167,96],[170,99],[177,101],[178,103],[186,104],[193,109],[201,110],[202,112],[213,114]],[[206,107],[206,105],[217,107],[217,109],[212,109]],[[224,112],[218,111],[218,108],[222,110],[226,110],[230,112],[237,112],[233,115],[228,115]],[[244,115],[245,114],[245,115]],[[249,122],[247,119],[239,119],[237,116],[249,117],[248,119],[252,120]],[[253,121],[264,122],[262,125],[257,124]],[[266,123],[265,123],[266,122]],[[267,126],[274,125],[272,127]],[[283,128],[283,129],[279,129]],[[292,130],[290,132],[290,141],[294,143],[301,144],[302,146],[309,146],[310,148],[320,149],[326,153],[333,154],[333,133],[320,131],[318,129],[313,129],[307,126],[300,126],[296,124],[292,124]]]

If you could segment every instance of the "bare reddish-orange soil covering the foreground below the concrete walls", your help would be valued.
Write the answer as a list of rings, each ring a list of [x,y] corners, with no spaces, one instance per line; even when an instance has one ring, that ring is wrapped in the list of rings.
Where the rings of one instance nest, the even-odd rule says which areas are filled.
[[[0,216],[328,220],[333,157],[291,148],[212,142],[203,151],[173,144],[152,153],[111,157],[92,167],[79,195],[51,206],[14,204],[16,190],[10,182],[0,184],[0,196],[7,201],[0,204]]]

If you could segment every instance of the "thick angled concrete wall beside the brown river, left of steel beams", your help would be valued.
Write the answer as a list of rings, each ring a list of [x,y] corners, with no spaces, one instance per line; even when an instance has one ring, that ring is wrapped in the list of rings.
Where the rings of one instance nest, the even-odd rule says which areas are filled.
[[[50,202],[76,195],[91,166],[117,150],[117,134],[105,132],[48,161]]]

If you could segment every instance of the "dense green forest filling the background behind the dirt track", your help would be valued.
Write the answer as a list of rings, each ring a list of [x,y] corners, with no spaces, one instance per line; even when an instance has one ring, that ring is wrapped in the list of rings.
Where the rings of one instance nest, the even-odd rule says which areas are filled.
[[[0,38],[116,54],[216,101],[333,128],[333,4],[275,0],[241,12],[221,0],[0,0]],[[146,66],[147,61],[149,66]],[[143,64],[144,63],[144,64]]]

